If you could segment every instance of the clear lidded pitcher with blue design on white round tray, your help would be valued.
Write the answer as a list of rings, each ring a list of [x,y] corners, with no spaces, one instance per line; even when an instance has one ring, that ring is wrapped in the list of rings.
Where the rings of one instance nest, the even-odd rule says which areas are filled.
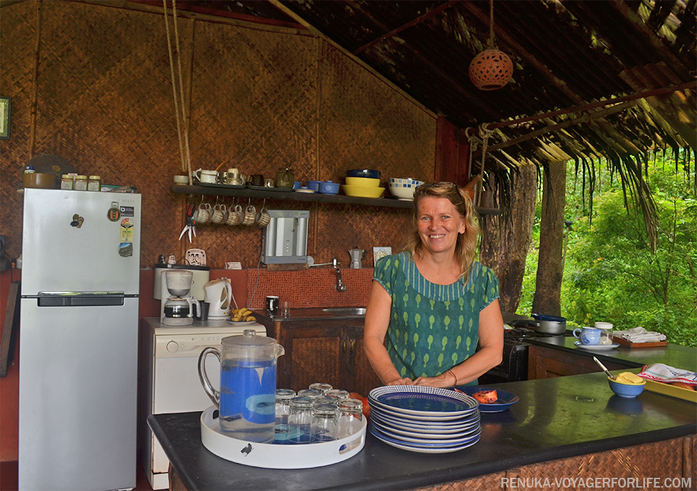
[[[254,329],[222,338],[220,345],[220,350],[209,346],[199,355],[199,379],[220,412],[220,432],[247,442],[273,442],[276,360],[285,350]],[[213,389],[206,374],[209,353],[220,361],[220,391]]]

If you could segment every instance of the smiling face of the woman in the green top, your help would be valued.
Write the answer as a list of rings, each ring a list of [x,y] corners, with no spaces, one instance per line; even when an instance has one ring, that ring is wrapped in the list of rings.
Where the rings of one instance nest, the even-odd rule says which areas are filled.
[[[417,223],[421,242],[431,253],[451,251],[454,254],[457,238],[466,228],[455,205],[437,196],[426,196],[419,201]]]

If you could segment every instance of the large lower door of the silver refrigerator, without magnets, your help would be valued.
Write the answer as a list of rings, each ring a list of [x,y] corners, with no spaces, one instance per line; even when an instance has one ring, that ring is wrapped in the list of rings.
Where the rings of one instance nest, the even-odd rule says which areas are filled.
[[[22,299],[20,490],[134,488],[138,299]]]

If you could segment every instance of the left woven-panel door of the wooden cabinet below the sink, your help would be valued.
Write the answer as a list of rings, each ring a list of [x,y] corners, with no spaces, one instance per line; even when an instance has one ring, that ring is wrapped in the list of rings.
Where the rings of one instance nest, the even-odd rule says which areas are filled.
[[[333,387],[342,387],[346,371],[346,357],[342,356],[344,329],[339,325],[316,325],[303,322],[303,327],[294,327],[294,322],[281,323],[281,345],[285,348],[284,360],[279,366],[279,381],[282,388],[298,391],[309,384],[323,382]]]

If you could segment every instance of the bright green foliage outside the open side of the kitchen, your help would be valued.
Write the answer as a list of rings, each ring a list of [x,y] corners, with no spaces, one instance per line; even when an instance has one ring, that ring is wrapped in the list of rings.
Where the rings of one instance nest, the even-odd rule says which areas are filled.
[[[668,341],[697,346],[697,201],[694,166],[688,176],[675,162],[650,164],[648,184],[659,216],[658,247],[651,251],[641,211],[627,200],[603,162],[592,215],[588,189],[581,189],[574,166],[567,174],[569,233],[561,308],[570,324],[612,322],[615,329],[643,326]],[[538,200],[539,201],[539,200]],[[529,314],[535,291],[539,210],[526,263],[519,313]]]

